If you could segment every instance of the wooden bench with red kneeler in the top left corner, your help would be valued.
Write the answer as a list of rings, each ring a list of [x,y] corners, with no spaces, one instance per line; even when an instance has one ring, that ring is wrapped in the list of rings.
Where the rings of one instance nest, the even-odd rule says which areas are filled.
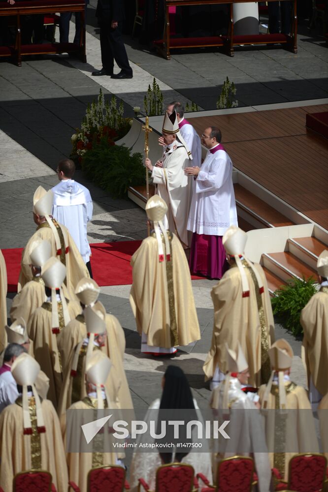
[[[85,29],[81,29],[80,43],[23,44],[21,41],[21,16],[31,14],[53,14],[54,12],[80,12],[81,24],[85,24],[84,0],[35,0],[16,1],[14,5],[0,1],[0,16],[11,16],[15,20],[16,39],[14,46],[0,46],[0,57],[11,57],[18,66],[23,55],[75,53],[82,62],[87,61],[85,52]]]

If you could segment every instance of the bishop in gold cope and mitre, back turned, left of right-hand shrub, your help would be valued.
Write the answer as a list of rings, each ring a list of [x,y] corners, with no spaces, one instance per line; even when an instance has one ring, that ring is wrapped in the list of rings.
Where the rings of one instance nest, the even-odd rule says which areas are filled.
[[[240,342],[246,356],[250,384],[267,383],[271,368],[268,349],[274,341],[274,320],[265,274],[261,265],[244,255],[247,235],[232,225],[223,236],[229,270],[212,289],[214,327],[211,348],[203,370],[212,387],[227,372],[226,342],[236,350]]]

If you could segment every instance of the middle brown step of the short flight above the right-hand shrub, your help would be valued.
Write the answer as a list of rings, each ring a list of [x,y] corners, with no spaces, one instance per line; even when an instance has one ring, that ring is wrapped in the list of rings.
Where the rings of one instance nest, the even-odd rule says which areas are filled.
[[[299,260],[290,251],[281,253],[263,253],[262,262],[264,267],[270,270],[274,275],[287,281],[293,277],[298,278],[317,278],[317,272],[314,268]]]

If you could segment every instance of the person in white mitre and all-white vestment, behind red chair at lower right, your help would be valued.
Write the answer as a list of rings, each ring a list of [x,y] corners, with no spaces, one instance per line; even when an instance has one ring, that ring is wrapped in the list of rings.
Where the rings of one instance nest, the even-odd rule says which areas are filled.
[[[213,409],[223,411],[225,419],[230,420],[226,430],[230,439],[213,443],[213,474],[215,477],[222,459],[235,455],[251,455],[259,477],[258,490],[268,492],[271,468],[262,418],[253,401],[242,391],[242,386],[247,384],[249,377],[248,363],[239,342],[237,351],[231,350],[226,344],[226,353],[228,373],[220,386],[212,391],[210,405]],[[219,449],[216,448],[218,443]]]

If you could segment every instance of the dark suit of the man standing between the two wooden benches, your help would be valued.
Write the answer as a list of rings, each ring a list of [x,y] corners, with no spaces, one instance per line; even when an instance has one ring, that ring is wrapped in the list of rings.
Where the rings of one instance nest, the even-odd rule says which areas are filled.
[[[122,23],[124,21],[124,3],[122,0],[98,0],[96,16],[100,26],[101,62],[103,68],[113,72],[114,59],[121,70],[132,75],[128,55],[122,39]],[[111,23],[116,21],[117,28],[112,29]]]

